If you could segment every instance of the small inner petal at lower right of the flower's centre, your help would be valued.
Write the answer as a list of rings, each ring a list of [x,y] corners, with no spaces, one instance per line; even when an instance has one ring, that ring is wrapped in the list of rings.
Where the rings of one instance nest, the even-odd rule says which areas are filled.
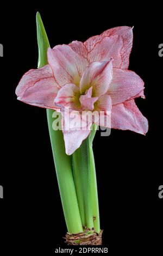
[[[96,102],[95,123],[103,127],[111,127],[111,97],[109,95],[103,95],[99,97]],[[97,120],[97,116],[99,117]]]

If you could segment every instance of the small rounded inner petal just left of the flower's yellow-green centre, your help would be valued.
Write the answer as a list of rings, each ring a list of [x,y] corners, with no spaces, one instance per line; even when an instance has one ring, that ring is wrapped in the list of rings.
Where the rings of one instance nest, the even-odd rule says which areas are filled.
[[[54,104],[56,106],[62,105],[72,109],[80,109],[79,96],[79,88],[73,83],[67,83],[58,91]]]

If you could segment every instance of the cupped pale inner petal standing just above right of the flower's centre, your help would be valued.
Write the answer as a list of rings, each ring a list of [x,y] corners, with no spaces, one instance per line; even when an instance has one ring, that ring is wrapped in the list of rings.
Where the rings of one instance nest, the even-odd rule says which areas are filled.
[[[80,80],[80,92],[85,93],[93,87],[93,96],[106,93],[112,80],[112,62],[92,62],[84,70]]]

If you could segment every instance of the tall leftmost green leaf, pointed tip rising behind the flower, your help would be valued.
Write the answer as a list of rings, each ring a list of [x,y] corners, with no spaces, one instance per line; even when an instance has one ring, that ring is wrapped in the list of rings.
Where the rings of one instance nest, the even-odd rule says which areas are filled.
[[[37,43],[39,47],[38,68],[41,68],[47,64],[47,49],[49,47],[49,42],[39,13],[36,15],[36,25]],[[54,111],[52,109],[47,109],[49,135],[51,138],[62,208],[64,210],[68,232],[78,233],[83,231],[83,228],[80,219],[76,190],[74,187],[71,157],[65,153],[65,144],[62,131],[53,130],[53,113]]]

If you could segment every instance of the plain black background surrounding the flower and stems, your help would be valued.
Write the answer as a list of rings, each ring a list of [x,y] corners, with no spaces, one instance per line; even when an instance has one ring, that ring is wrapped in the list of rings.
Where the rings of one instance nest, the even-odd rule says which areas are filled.
[[[133,6],[131,6],[133,5]],[[36,11],[40,11],[51,46],[85,41],[116,26],[134,26],[130,70],[145,81],[146,100],[137,99],[149,120],[146,136],[111,130],[97,132],[97,169],[103,245],[110,255],[161,252],[162,179],[162,65],[161,7],[47,3],[2,8],[1,64],[1,207],[0,250],[42,251],[64,248],[66,225],[49,141],[45,109],[16,100],[15,88],[24,72],[37,67]]]

